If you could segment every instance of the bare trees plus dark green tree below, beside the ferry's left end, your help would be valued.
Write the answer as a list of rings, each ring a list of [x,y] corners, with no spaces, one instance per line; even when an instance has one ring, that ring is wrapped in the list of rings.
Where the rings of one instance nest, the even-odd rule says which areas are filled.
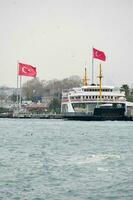
[[[82,80],[78,76],[49,81],[34,78],[23,84],[22,97],[23,100],[31,100],[32,102],[47,102],[48,112],[60,113],[62,90],[79,87],[81,84]]]

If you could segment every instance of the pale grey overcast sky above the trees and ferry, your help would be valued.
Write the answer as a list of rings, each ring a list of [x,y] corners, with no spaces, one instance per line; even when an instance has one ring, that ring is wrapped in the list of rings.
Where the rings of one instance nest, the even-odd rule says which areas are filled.
[[[107,56],[105,84],[133,84],[132,0],[0,0],[0,86],[16,87],[18,60],[41,80],[82,77],[84,67],[91,79],[92,46]]]

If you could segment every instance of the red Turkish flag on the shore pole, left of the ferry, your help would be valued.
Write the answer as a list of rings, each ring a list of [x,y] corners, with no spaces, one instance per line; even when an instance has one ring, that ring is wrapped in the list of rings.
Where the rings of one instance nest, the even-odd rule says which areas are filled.
[[[19,63],[18,75],[36,77],[36,67],[24,63]]]

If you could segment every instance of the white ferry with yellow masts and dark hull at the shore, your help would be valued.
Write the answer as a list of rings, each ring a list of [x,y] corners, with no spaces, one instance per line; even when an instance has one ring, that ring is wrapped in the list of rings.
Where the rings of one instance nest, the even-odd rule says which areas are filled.
[[[88,85],[87,73],[83,86],[62,92],[62,117],[69,120],[125,120],[125,93],[113,86],[102,85],[100,65],[99,84]]]

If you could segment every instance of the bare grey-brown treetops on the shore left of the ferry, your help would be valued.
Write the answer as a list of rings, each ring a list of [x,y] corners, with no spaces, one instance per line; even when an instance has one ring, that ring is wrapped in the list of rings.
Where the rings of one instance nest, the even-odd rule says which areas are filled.
[[[72,87],[79,87],[82,84],[82,80],[78,76],[71,76],[63,80],[39,80],[34,78],[25,82],[22,86],[22,95],[25,100],[33,100],[35,97],[47,97],[53,96],[61,98],[63,89],[69,89]]]

